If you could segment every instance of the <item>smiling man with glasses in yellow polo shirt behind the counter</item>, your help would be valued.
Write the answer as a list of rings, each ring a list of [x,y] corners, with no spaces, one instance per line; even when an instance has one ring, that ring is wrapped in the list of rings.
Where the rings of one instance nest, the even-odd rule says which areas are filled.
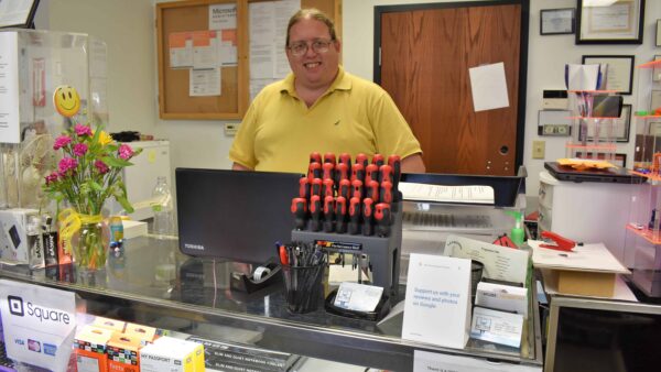
[[[339,66],[333,21],[316,9],[290,20],[293,74],[254,98],[229,151],[232,169],[306,173],[312,152],[397,154],[405,173],[424,173],[420,143],[390,96]]]

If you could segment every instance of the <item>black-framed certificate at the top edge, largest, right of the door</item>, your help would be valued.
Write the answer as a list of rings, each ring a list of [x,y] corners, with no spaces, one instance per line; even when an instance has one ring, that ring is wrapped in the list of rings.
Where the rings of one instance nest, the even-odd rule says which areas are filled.
[[[577,0],[576,44],[642,44],[644,0]]]

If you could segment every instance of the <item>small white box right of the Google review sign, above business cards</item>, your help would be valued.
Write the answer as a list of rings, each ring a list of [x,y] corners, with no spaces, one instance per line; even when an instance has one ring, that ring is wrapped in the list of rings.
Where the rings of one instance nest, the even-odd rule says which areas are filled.
[[[513,311],[528,318],[528,289],[511,285],[479,282],[475,306]]]

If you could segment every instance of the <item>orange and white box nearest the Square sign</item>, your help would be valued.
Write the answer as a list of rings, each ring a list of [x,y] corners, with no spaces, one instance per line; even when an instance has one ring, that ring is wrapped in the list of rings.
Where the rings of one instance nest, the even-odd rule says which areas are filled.
[[[79,372],[107,372],[106,348],[112,331],[94,326],[85,326],[74,339],[76,370]]]

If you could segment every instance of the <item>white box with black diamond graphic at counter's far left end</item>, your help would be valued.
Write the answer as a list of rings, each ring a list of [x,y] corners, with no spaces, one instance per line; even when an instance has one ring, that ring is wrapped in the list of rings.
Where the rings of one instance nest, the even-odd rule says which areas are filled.
[[[29,218],[37,214],[36,209],[0,210],[0,259],[14,263],[30,262],[26,227]]]

